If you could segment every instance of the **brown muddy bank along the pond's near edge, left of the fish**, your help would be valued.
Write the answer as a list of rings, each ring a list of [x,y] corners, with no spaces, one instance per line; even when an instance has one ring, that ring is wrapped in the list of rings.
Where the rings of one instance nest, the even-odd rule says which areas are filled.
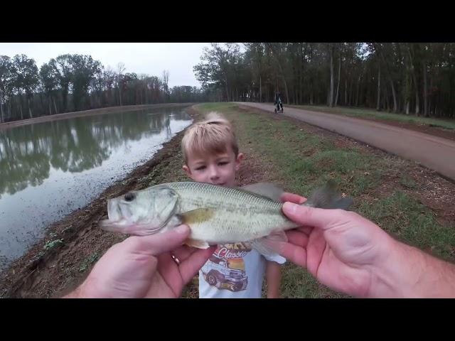
[[[176,107],[183,105],[188,104],[179,104]],[[149,106],[145,109],[151,108],[156,107]],[[192,107],[188,107],[186,112],[193,119],[197,116]],[[85,113],[82,116],[88,114]],[[99,114],[99,112],[90,114]],[[45,229],[45,237],[1,272],[0,297],[58,297],[63,294],[63,291],[68,291],[68,288],[77,286],[87,275],[92,263],[112,244],[120,242],[126,237],[104,232],[98,227],[98,222],[107,215],[107,199],[127,193],[129,190],[146,188],[160,178],[160,170],[166,168],[169,161],[175,157],[182,137],[183,131],[173,136],[171,141],[164,143],[151,160],[109,186],[88,205],[70,213],[62,220],[50,224]],[[99,245],[95,247],[95,244]],[[77,267],[83,257],[91,261],[86,262],[86,266]],[[75,266],[76,270],[71,269]],[[72,279],[68,281],[68,278]],[[50,292],[46,288],[53,281],[56,281],[52,285],[56,290]]]

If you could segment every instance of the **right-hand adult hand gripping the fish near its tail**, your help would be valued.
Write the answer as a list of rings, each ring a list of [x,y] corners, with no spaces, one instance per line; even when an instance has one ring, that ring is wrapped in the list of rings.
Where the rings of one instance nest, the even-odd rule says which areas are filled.
[[[287,232],[280,254],[306,268],[324,285],[353,296],[375,296],[382,286],[395,240],[355,212],[306,207],[299,195],[284,193],[282,211],[301,227]]]

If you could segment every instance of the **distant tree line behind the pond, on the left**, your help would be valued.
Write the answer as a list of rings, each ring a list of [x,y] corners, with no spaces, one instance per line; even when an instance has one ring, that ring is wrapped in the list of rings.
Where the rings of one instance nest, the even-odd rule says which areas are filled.
[[[0,123],[100,107],[203,102],[198,87],[168,87],[161,77],[114,70],[90,55],[65,54],[38,69],[27,55],[0,55]]]

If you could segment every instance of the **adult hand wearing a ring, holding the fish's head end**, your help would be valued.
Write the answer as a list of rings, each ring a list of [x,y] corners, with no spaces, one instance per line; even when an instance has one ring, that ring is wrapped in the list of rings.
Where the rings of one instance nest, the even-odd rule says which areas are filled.
[[[181,225],[115,244],[97,261],[84,283],[66,297],[177,298],[215,251],[215,247],[182,246],[189,234],[188,226]]]

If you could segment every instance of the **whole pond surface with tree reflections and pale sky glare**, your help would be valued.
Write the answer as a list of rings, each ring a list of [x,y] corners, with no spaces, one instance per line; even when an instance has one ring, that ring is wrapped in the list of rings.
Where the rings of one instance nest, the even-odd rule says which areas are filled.
[[[177,108],[0,131],[0,269],[43,227],[86,205],[190,123]]]

